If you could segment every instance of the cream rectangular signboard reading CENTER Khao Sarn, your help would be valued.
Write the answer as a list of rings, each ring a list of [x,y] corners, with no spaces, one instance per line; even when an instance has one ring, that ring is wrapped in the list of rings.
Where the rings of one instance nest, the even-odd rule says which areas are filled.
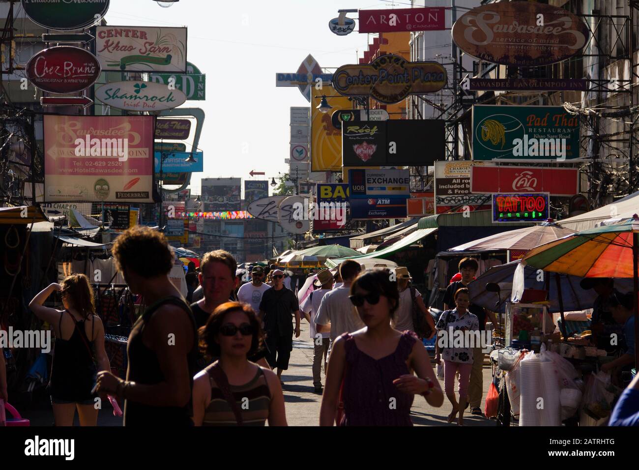
[[[96,56],[104,72],[187,71],[187,28],[98,26]]]

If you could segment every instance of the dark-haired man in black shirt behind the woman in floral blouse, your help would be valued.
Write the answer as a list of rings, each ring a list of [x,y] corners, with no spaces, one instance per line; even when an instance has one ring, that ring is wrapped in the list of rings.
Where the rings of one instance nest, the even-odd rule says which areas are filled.
[[[455,281],[450,283],[446,288],[446,292],[443,295],[443,308],[445,310],[449,308],[455,308],[454,295],[458,289],[462,287],[468,287],[468,284],[473,280],[475,274],[479,269],[479,263],[473,258],[464,258],[459,262],[459,272],[461,273],[461,281]],[[493,325],[497,325],[497,319],[493,312],[486,310],[479,305],[472,303],[470,299],[470,305],[468,311],[475,315],[479,320],[479,330],[483,332],[486,329],[486,316]],[[470,412],[475,415],[481,415],[481,398],[484,389],[484,375],[482,368],[484,367],[484,352],[481,347],[475,347],[473,349],[473,368],[470,372],[470,383],[468,384],[468,403],[470,403]]]

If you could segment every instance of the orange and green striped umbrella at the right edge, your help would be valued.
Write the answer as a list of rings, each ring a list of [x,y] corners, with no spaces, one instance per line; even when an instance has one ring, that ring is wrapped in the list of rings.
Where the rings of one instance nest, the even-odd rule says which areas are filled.
[[[538,246],[528,251],[523,263],[583,278],[633,278],[635,338],[639,338],[639,215]],[[635,364],[639,364],[637,348]]]

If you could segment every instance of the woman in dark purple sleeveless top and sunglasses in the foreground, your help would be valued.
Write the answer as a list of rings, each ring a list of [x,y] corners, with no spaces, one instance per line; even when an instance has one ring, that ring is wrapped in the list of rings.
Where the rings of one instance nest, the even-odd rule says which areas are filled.
[[[443,394],[424,345],[414,333],[390,326],[399,302],[397,285],[389,270],[373,270],[360,274],[350,293],[366,326],[335,340],[319,424],[412,426],[414,395],[440,407]]]

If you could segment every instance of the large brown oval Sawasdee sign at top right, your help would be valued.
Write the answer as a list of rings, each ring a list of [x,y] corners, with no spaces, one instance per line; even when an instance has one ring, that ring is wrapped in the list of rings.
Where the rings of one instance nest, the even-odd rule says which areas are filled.
[[[514,1],[473,8],[452,26],[452,39],[478,59],[533,67],[574,56],[589,37],[586,24],[562,8]]]

